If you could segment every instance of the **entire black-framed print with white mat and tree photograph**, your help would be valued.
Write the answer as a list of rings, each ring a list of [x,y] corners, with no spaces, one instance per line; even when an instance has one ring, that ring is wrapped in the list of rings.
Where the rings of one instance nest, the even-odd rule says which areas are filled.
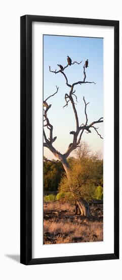
[[[119,258],[119,22],[21,17],[25,265]]]

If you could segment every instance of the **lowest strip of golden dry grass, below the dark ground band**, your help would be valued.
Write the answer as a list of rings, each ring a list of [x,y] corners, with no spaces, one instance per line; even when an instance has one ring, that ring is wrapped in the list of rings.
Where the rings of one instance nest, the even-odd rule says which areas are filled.
[[[71,222],[70,220],[44,221],[44,236],[48,233],[54,243],[70,243],[70,242],[91,242],[103,240],[102,222],[87,221]],[[67,239],[68,238],[68,239]],[[59,242],[59,240],[63,242]]]

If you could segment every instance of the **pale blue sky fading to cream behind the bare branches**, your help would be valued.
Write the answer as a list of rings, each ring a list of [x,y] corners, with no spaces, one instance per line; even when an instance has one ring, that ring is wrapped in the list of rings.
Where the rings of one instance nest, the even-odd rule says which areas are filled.
[[[83,61],[80,65],[74,64],[66,68],[65,74],[68,82],[83,80],[83,66],[89,59],[89,67],[86,69],[86,81],[94,81],[92,84],[75,86],[77,95],[77,113],[79,123],[85,122],[84,101],[90,102],[87,106],[88,124],[103,117],[103,39],[87,37],[68,37],[44,35],[44,100],[56,91],[56,85],[59,87],[58,93],[51,97],[48,102],[52,104],[48,117],[54,127],[53,136],[57,136],[54,147],[64,153],[70,143],[72,143],[71,130],[75,130],[75,119],[71,104],[65,105],[65,93],[69,93],[70,88],[66,86],[65,78],[61,73],[55,74],[49,71],[59,69],[57,64],[63,67],[67,65],[67,55],[73,61]],[[98,124],[99,133],[103,136],[103,124]],[[88,142],[94,152],[103,149],[103,139],[92,130],[92,133],[84,133],[83,141]],[[47,132],[47,130],[46,130]],[[44,155],[48,158],[54,158],[53,154],[44,148]]]

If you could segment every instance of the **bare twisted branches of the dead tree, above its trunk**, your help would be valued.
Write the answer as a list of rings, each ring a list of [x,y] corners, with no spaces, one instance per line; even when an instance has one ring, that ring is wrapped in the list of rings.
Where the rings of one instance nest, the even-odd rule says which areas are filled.
[[[76,61],[74,61],[73,63],[71,63],[71,65],[73,65],[73,64],[75,64],[75,63],[76,63],[76,64],[80,64],[80,63],[82,63],[82,61],[79,62],[79,63],[76,62]],[[69,66],[69,65],[67,64],[63,69],[60,69],[60,70],[58,70],[58,71],[57,71],[57,70],[52,71],[52,70],[51,70],[51,66],[49,66],[50,72],[53,72],[53,73],[55,73],[55,74],[61,73],[61,74],[64,76],[64,78],[65,78],[65,80],[66,80],[66,85],[70,88],[69,94],[67,94],[67,93],[65,94],[65,101],[66,101],[66,104],[63,106],[63,108],[64,108],[65,106],[68,106],[68,103],[71,102],[72,109],[73,109],[73,112],[74,112],[75,121],[76,121],[76,130],[75,130],[75,131],[70,131],[70,134],[73,135],[73,142],[68,146],[67,151],[66,151],[63,155],[62,155],[61,153],[59,153],[58,151],[56,151],[55,148],[52,146],[52,143],[56,140],[56,136],[53,138],[53,126],[50,124],[50,121],[49,121],[49,119],[48,119],[48,117],[47,117],[47,112],[48,112],[49,108],[51,107],[51,104],[50,104],[50,105],[47,104],[47,100],[48,100],[50,97],[54,96],[54,95],[58,92],[58,89],[59,89],[59,88],[56,86],[57,91],[56,91],[53,95],[50,95],[50,96],[44,101],[44,103],[47,104],[47,108],[46,108],[46,110],[44,110],[44,117],[45,117],[45,120],[44,120],[44,121],[46,121],[46,124],[44,125],[44,127],[47,126],[47,128],[50,130],[50,138],[49,138],[49,139],[47,139],[47,138],[46,138],[46,135],[44,135],[45,142],[46,142],[46,143],[45,143],[45,145],[46,145],[45,147],[48,146],[48,148],[49,148],[54,154],[56,154],[56,157],[58,157],[59,160],[62,159],[62,156],[65,157],[65,158],[67,158],[67,157],[69,156],[69,154],[70,154],[74,149],[76,149],[76,148],[78,147],[78,145],[79,145],[79,143],[80,143],[80,140],[81,140],[81,138],[82,138],[82,135],[83,135],[84,131],[87,132],[87,133],[91,133],[91,130],[90,130],[90,129],[91,129],[91,128],[94,128],[95,131],[97,132],[97,134],[102,138],[102,136],[101,136],[101,135],[98,133],[98,131],[97,131],[98,128],[96,128],[96,127],[94,126],[94,124],[96,124],[96,123],[102,123],[102,122],[103,122],[103,118],[100,118],[98,121],[94,121],[94,122],[92,122],[91,124],[88,125],[87,105],[89,104],[89,102],[86,103],[85,97],[83,97],[83,100],[84,100],[84,103],[85,103],[86,123],[79,126],[77,110],[76,110],[76,107],[75,107],[76,104],[74,103],[74,100],[73,100],[73,96],[74,96],[74,97],[76,98],[76,102],[77,102],[77,96],[76,96],[76,94],[74,94],[74,93],[75,93],[74,86],[76,86],[76,85],[82,85],[82,84],[84,84],[84,83],[94,83],[94,85],[95,85],[95,82],[94,82],[94,81],[86,81],[86,71],[85,71],[85,70],[86,70],[86,67],[85,67],[85,64],[84,64],[84,66],[83,66],[83,68],[84,68],[84,79],[83,79],[83,81],[76,81],[76,82],[72,83],[72,85],[70,85],[70,83],[68,82],[68,78],[67,78],[66,74],[64,73],[64,70],[65,70],[68,66]],[[46,105],[45,105],[45,106],[46,106]]]

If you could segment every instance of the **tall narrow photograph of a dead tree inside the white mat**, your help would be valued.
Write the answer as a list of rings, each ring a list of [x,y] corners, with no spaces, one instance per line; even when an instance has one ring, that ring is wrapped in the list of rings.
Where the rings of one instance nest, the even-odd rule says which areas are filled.
[[[45,245],[104,241],[103,41],[43,35]]]

